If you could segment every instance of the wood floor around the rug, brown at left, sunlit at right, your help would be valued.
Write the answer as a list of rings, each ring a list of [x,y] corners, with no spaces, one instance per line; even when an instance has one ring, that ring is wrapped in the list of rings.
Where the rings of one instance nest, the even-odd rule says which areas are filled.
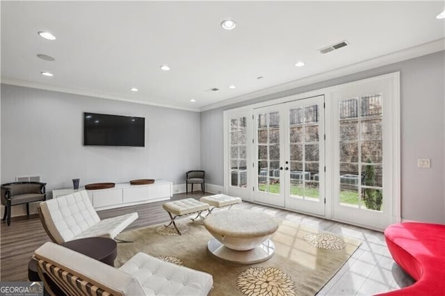
[[[209,195],[209,194],[207,194]],[[202,197],[200,192],[174,195],[172,199]],[[139,218],[129,229],[137,229],[152,224],[168,222],[168,215],[163,211],[164,202],[115,208],[99,211],[99,217],[115,217],[125,213],[138,212]],[[291,211],[270,208],[249,202],[243,202],[237,208],[250,208],[264,211],[280,219],[293,220],[324,231],[338,233],[362,240],[362,245],[343,265],[343,268],[326,284],[318,295],[372,295],[398,289],[414,281],[394,263],[385,245],[383,233],[360,227],[324,220],[318,217],[302,215]],[[44,242],[50,241],[44,232],[37,215],[13,218],[10,227],[0,223],[1,234],[1,281],[26,281],[28,263],[33,254]]]

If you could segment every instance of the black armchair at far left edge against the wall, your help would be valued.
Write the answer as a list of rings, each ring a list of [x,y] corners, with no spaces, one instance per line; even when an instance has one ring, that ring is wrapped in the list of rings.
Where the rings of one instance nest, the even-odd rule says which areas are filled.
[[[26,204],[26,215],[29,216],[29,203],[40,202],[47,198],[45,186],[41,182],[13,182],[1,185],[1,204],[5,206],[3,221],[8,218],[11,224],[11,206]]]

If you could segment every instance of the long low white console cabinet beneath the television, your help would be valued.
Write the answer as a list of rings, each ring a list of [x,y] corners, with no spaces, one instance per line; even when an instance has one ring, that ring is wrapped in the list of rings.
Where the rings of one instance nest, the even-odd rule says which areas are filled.
[[[79,188],[84,190],[85,188]],[[74,189],[53,190],[53,198],[69,195],[79,191]],[[133,204],[145,204],[147,202],[159,202],[172,197],[172,182],[156,180],[148,185],[131,185],[130,183],[116,184],[113,188],[87,190],[92,206],[96,210],[108,208],[120,208]]]

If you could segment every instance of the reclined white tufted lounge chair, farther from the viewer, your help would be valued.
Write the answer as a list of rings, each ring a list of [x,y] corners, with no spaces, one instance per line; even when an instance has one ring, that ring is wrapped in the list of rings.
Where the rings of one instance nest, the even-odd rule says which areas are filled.
[[[41,202],[39,213],[49,238],[58,244],[93,236],[115,238],[138,218],[138,213],[130,213],[100,220],[86,190]]]

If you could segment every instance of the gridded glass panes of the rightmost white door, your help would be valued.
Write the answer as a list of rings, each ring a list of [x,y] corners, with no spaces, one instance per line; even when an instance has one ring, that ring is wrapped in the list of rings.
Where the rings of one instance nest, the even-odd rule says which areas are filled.
[[[339,204],[382,211],[382,96],[339,101]]]

